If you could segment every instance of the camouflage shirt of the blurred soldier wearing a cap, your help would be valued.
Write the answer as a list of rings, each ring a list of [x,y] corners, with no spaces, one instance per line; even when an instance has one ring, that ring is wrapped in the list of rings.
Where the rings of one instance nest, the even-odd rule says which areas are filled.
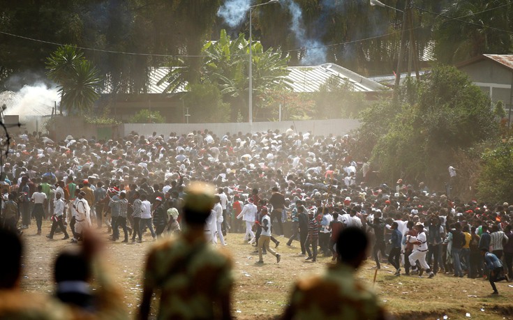
[[[213,301],[231,291],[231,270],[230,257],[203,239],[182,234],[158,243],[144,274],[144,287],[161,291],[157,319],[216,319]]]

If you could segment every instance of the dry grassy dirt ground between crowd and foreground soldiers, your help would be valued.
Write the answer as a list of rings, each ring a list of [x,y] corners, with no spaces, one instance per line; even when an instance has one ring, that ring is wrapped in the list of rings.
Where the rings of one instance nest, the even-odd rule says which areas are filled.
[[[26,245],[22,271],[22,287],[28,291],[52,294],[52,264],[60,250],[76,245],[60,240],[62,234],[56,234],[54,240],[47,239],[50,222],[43,222],[43,234],[36,235],[33,221],[24,231]],[[106,229],[101,230],[107,240]],[[57,239],[57,240],[55,240]],[[235,291],[232,310],[236,319],[276,319],[283,312],[288,301],[292,283],[298,277],[322,272],[331,258],[319,257],[312,263],[305,261],[295,241],[291,247],[281,241],[276,249],[281,261],[267,254],[265,264],[256,265],[258,254],[254,247],[242,241],[242,234],[228,234],[226,247],[234,259]],[[134,314],[140,303],[142,292],[142,268],[144,257],[153,244],[151,236],[144,234],[143,243],[112,243],[106,241],[107,266],[114,279],[124,289],[125,303]],[[373,286],[375,270],[373,261],[358,272],[369,286]],[[382,265],[378,271],[374,289],[387,310],[396,319],[513,319],[513,282],[497,284],[500,295],[491,296],[491,287],[483,279],[455,278],[452,275],[438,274],[433,279],[417,276],[395,277],[392,267]],[[152,305],[152,310],[156,301]],[[445,318],[444,316],[447,316]]]

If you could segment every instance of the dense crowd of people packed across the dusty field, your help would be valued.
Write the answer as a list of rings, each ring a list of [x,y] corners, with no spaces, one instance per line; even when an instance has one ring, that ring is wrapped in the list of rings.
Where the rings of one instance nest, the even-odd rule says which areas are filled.
[[[107,228],[110,241],[121,229],[123,242],[131,236],[139,243],[190,236],[185,225],[201,224],[203,237],[219,246],[233,241],[227,234],[244,234],[257,247],[257,264],[267,252],[279,263],[269,243],[288,240],[299,241],[308,261],[323,254],[356,267],[359,252],[348,258],[342,251],[352,246],[339,235],[359,229],[376,268],[388,257],[398,276],[486,275],[498,293],[495,282],[513,275],[513,206],[461,201],[403,179],[371,185],[370,164],[352,158],[352,144],[349,135],[316,137],[293,127],[222,137],[208,130],[108,140],[69,135],[60,142],[25,132],[1,167],[1,224],[21,234],[35,221],[40,235],[43,220],[52,220],[47,237],[62,233],[73,242],[94,225]],[[194,181],[215,185],[216,195],[205,220],[187,224],[186,187]]]

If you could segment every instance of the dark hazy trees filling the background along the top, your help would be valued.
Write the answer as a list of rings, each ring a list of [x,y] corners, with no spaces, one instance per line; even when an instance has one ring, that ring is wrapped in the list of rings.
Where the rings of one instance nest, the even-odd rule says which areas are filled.
[[[228,1],[233,0],[0,0],[0,85],[16,90],[22,84],[13,78],[6,82],[10,75],[25,81],[41,77],[42,62],[58,47],[52,43],[89,48],[84,55],[102,75],[110,75],[114,93],[144,93],[149,68],[169,63],[169,55],[181,56],[190,68],[186,79],[196,82],[205,41],[217,40],[228,26],[217,15]],[[406,0],[383,2],[403,10]],[[413,1],[419,56],[433,45],[436,58],[449,63],[510,52],[513,6],[507,3]],[[253,10],[253,37],[264,52],[274,47],[288,54],[290,65],[333,62],[364,75],[389,74],[396,66],[402,18],[401,12],[369,1],[281,0]],[[248,29],[245,13],[228,34],[248,38]],[[308,59],[315,50],[321,58]]]

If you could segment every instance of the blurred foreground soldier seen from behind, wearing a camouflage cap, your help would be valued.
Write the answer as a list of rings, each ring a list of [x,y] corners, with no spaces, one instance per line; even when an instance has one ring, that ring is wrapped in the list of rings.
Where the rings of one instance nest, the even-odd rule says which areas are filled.
[[[186,190],[184,230],[150,250],[138,319],[148,319],[154,291],[161,292],[156,319],[232,318],[232,261],[205,238],[214,191],[211,185],[192,183]]]

